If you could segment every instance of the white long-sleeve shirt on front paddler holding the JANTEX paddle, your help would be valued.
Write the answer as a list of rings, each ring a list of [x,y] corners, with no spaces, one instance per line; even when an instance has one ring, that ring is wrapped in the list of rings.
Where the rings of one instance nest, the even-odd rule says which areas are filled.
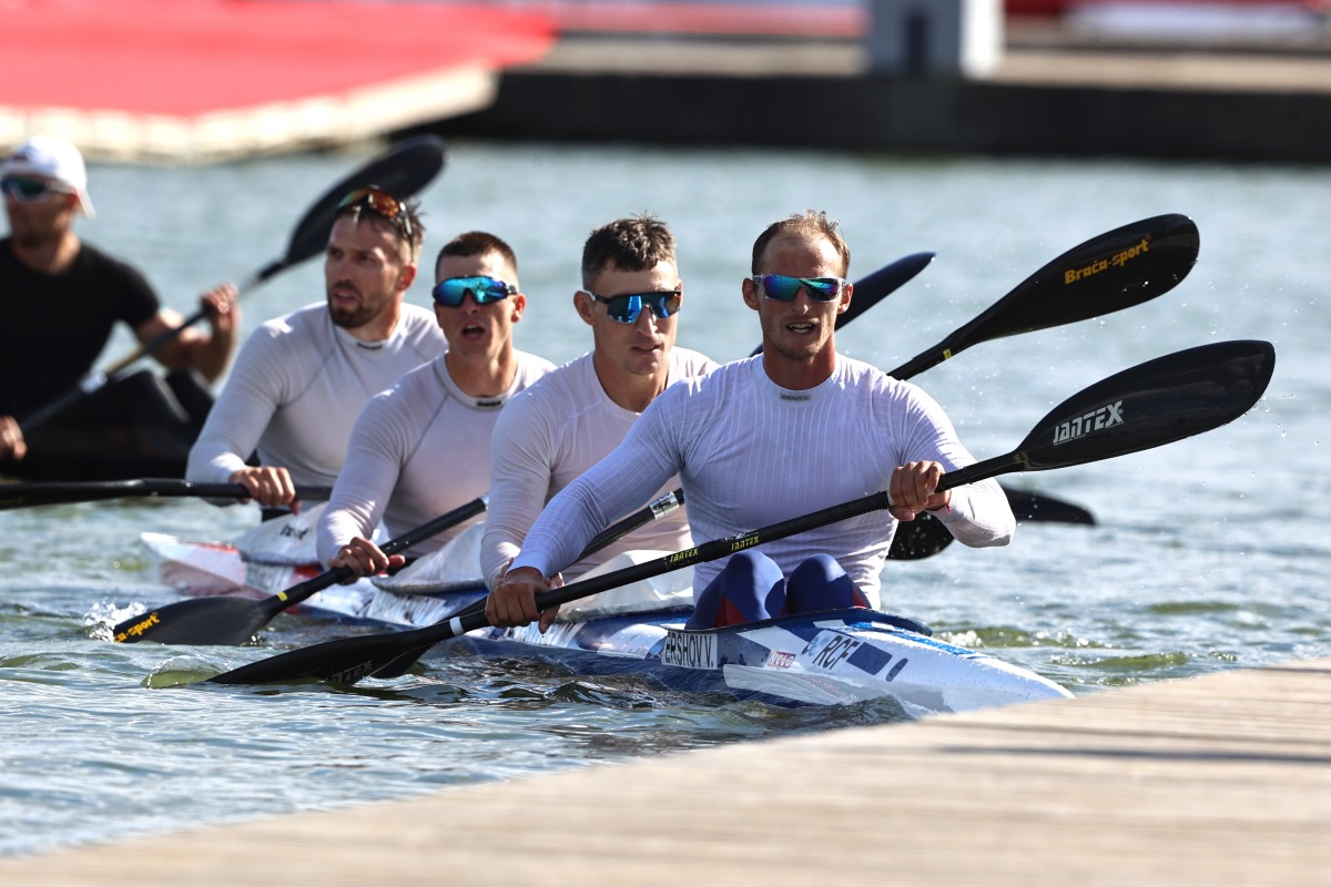
[[[662,392],[615,452],[551,500],[514,568],[554,574],[607,516],[646,501],[676,472],[701,544],[888,489],[897,465],[920,460],[946,471],[974,461],[918,387],[837,355],[827,382],[789,391],[767,376],[761,356],[749,358]],[[972,547],[1006,544],[1016,529],[996,480],[954,488],[950,512],[937,516]],[[832,555],[878,606],[878,574],[896,527],[886,511],[876,511],[760,551],[785,574],[807,557]],[[695,590],[724,565],[725,559],[697,565]]]

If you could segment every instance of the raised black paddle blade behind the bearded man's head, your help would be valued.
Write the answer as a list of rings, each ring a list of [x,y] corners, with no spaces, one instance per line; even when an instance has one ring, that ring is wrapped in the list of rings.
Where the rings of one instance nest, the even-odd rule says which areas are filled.
[[[355,170],[329,189],[314,206],[305,213],[291,241],[286,247],[282,265],[303,262],[323,251],[333,230],[337,205],[358,188],[377,185],[394,197],[407,199],[434,181],[443,169],[447,146],[438,136],[417,136],[407,138],[389,153]]]

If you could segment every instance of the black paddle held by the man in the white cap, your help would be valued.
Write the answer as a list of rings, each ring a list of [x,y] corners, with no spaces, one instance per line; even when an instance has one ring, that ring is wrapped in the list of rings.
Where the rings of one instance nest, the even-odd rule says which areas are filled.
[[[273,262],[269,262],[261,270],[250,275],[249,279],[244,281],[238,287],[240,293],[244,294],[260,283],[276,277],[281,271],[285,271],[293,265],[298,265],[305,259],[322,253],[327,246],[329,231],[333,230],[333,221],[337,215],[337,205],[343,197],[346,197],[347,193],[355,190],[357,188],[378,185],[398,197],[406,198],[429,185],[430,181],[439,174],[439,170],[443,169],[445,157],[446,153],[442,138],[438,136],[417,136],[399,142],[387,153],[381,154],[361,169],[355,170],[330,188],[327,193],[310,206],[310,209],[305,213],[305,217],[297,222],[295,230],[291,231],[291,239],[286,245],[286,254]],[[156,354],[165,344],[174,340],[182,330],[194,326],[205,317],[206,314],[200,310],[186,318],[174,330],[168,330],[161,335],[154,336],[105,370],[93,370],[84,376],[79,384],[61,396],[56,398],[40,410],[19,419],[19,427],[21,427],[25,432],[31,432],[43,423],[48,422],[52,416],[95,394],[104,386],[112,382],[118,382],[125,375],[125,371],[133,363],[138,362],[140,358]]]

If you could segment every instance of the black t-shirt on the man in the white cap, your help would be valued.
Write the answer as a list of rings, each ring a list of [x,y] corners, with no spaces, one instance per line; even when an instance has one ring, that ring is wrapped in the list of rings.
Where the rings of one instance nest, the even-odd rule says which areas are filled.
[[[39,274],[0,241],[0,415],[23,416],[92,370],[116,322],[158,311],[142,274],[83,243],[63,274]]]

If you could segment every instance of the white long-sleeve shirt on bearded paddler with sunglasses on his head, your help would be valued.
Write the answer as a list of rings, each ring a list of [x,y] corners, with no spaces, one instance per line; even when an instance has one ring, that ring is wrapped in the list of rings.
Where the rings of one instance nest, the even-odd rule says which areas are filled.
[[[403,305],[393,335],[361,342],[323,302],[269,320],[246,339],[194,447],[185,476],[225,484],[258,449],[297,484],[331,485],[361,410],[410,370],[447,350],[434,314]]]

